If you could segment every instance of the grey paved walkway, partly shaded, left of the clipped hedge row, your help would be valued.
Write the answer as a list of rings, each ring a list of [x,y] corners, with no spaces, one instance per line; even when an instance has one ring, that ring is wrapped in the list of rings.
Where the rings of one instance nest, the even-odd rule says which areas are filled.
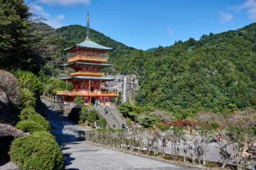
[[[43,102],[50,104],[45,100]],[[51,133],[63,146],[65,169],[189,169],[77,141],[77,131],[88,129],[74,124],[55,110],[46,110],[45,113],[51,123]]]

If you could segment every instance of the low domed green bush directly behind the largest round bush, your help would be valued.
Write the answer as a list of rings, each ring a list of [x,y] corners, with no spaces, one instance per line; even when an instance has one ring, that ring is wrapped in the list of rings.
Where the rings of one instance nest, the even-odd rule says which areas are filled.
[[[20,129],[23,132],[33,133],[35,131],[47,131],[44,126],[37,124],[37,122],[31,120],[22,120],[16,124],[15,128]]]

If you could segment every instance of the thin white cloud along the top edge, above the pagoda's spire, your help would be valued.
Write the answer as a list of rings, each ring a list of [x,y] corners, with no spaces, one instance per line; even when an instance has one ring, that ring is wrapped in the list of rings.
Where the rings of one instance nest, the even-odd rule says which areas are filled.
[[[53,5],[61,5],[61,6],[72,6],[77,4],[87,4],[91,3],[91,0],[37,0],[41,3],[48,4],[50,6]]]

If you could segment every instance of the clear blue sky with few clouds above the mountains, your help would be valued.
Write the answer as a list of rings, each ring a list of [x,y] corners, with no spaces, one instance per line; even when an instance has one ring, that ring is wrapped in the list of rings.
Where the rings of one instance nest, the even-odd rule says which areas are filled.
[[[256,0],[35,0],[30,6],[54,28],[85,26],[89,11],[92,29],[143,50],[256,22]]]

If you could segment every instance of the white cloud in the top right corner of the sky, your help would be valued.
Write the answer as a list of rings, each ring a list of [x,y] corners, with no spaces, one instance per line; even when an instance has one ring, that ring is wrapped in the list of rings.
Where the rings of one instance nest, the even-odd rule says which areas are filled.
[[[243,4],[233,7],[236,12],[242,11],[243,9],[247,9],[247,13],[249,14],[249,18],[252,20],[256,20],[256,1],[255,0],[247,0]]]

